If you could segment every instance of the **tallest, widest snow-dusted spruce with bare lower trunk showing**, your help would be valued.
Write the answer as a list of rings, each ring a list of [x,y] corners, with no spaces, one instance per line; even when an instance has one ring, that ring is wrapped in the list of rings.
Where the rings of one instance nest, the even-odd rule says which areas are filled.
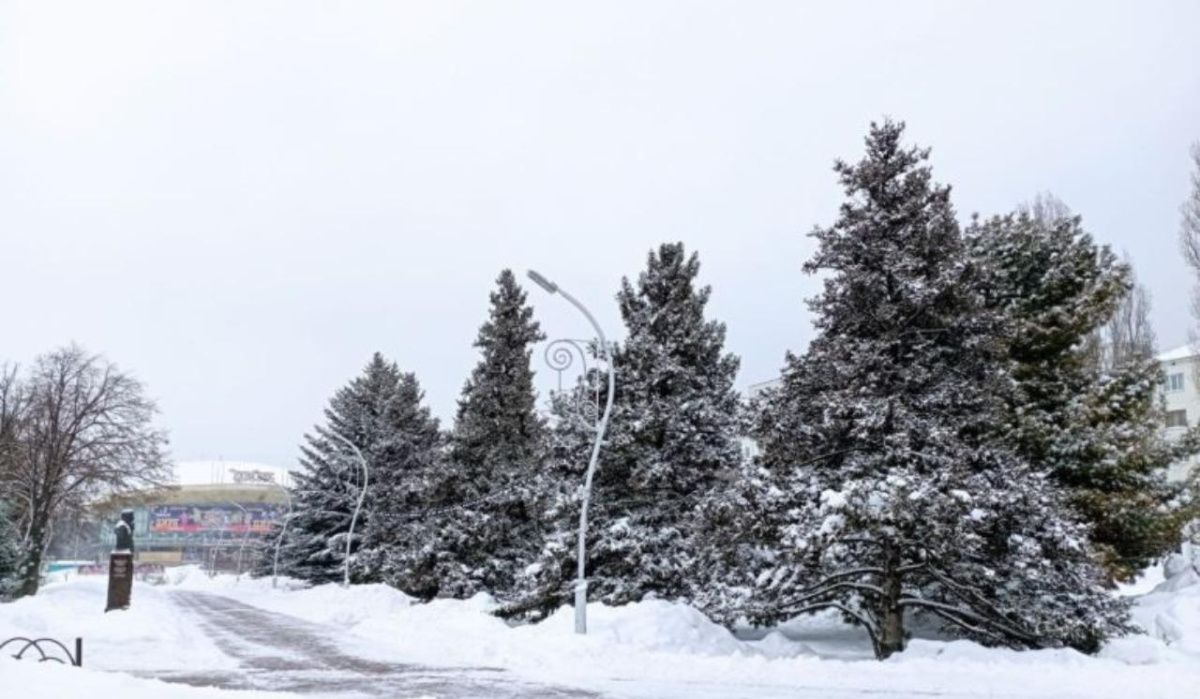
[[[818,330],[755,429],[757,622],[838,610],[876,655],[918,614],[1014,647],[1092,650],[1127,629],[1086,531],[1048,478],[990,442],[1004,366],[949,189],[904,125],[835,167],[848,201],[812,233]]]

